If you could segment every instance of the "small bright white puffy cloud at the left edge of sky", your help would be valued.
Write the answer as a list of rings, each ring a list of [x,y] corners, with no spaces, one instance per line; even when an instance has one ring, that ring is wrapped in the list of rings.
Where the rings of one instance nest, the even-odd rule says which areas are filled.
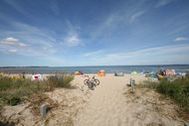
[[[19,39],[16,39],[14,37],[7,37],[3,39],[1,42],[3,45],[8,45],[8,46],[17,46],[17,47],[26,47],[27,45],[20,42]]]

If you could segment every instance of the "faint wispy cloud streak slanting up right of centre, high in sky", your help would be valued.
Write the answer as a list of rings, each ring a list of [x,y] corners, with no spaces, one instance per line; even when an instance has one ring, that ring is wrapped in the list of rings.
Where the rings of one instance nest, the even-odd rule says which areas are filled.
[[[118,10],[102,18],[101,23],[89,31],[91,38],[108,38],[113,36],[115,31],[119,31],[119,27],[128,26],[139,20],[149,9],[149,7],[145,7],[145,5],[145,2],[142,0],[132,6],[123,4]]]

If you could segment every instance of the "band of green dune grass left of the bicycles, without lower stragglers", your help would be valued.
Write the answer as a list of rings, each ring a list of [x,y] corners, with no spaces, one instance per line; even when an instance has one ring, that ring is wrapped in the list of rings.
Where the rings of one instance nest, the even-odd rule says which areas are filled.
[[[70,75],[49,76],[43,81],[0,76],[0,107],[17,105],[33,94],[52,91],[56,87],[69,88],[73,77]]]

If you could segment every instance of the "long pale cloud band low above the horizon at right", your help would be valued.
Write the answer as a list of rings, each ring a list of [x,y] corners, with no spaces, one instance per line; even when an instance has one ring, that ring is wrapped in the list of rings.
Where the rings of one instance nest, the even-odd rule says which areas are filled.
[[[189,45],[169,45],[130,52],[100,53],[89,57],[92,65],[148,65],[189,63]]]

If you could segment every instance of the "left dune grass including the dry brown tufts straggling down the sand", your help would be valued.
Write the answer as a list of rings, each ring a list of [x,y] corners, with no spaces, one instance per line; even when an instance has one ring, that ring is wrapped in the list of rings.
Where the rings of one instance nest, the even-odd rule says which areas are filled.
[[[0,126],[14,126],[17,121],[10,122],[9,119],[3,117],[4,105],[17,105],[22,102],[29,102],[28,107],[36,117],[40,116],[39,107],[47,103],[48,111],[58,106],[50,99],[45,92],[53,91],[55,88],[71,88],[73,76],[70,75],[55,75],[49,76],[43,81],[31,81],[20,77],[9,77],[0,75]]]

